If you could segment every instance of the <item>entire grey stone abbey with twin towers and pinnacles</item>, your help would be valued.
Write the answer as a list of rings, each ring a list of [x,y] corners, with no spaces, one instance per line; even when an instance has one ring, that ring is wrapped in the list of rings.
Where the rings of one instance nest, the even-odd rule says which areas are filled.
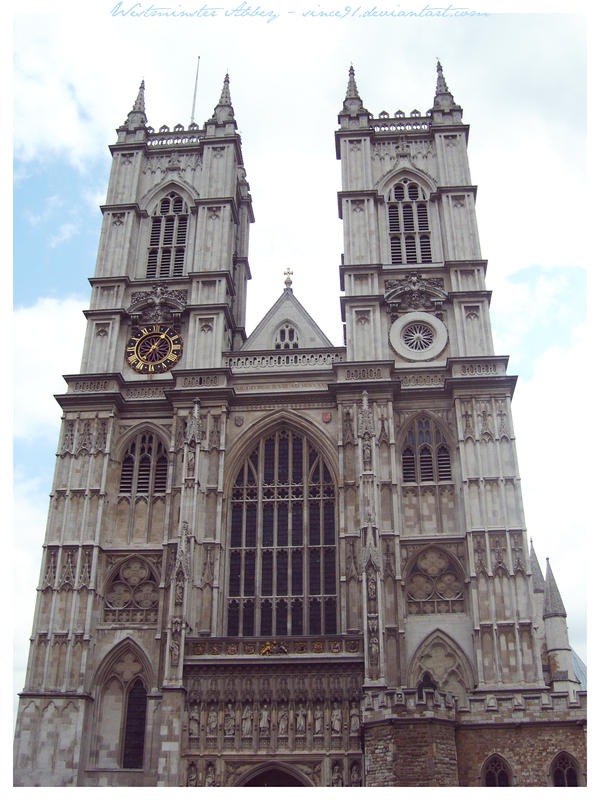
[[[437,67],[335,134],[345,345],[285,289],[245,331],[252,201],[226,77],[144,86],[65,394],[17,785],[586,782],[586,694],[525,533],[507,357]],[[332,305],[336,302],[331,298]]]

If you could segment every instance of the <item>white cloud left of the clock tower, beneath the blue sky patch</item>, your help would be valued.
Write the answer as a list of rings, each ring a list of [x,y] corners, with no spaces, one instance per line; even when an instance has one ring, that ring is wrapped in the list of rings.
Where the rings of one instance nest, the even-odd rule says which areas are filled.
[[[40,298],[14,313],[14,435],[56,443],[60,409],[53,394],[66,390],[61,377],[77,372],[85,332],[82,298]]]

